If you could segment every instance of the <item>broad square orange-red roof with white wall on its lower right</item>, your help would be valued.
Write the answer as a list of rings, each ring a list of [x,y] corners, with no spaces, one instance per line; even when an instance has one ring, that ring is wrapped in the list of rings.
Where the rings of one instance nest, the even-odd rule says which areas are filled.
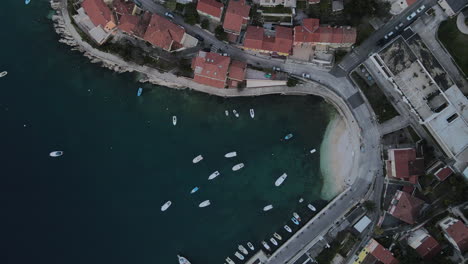
[[[173,51],[184,42],[185,29],[164,17],[153,14],[143,38],[153,46]]]

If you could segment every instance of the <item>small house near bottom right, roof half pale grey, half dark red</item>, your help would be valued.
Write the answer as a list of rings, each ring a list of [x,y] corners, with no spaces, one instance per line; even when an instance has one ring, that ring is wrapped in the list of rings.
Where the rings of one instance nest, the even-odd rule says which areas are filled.
[[[423,259],[431,259],[440,252],[440,245],[426,229],[417,229],[408,236],[408,245]]]

